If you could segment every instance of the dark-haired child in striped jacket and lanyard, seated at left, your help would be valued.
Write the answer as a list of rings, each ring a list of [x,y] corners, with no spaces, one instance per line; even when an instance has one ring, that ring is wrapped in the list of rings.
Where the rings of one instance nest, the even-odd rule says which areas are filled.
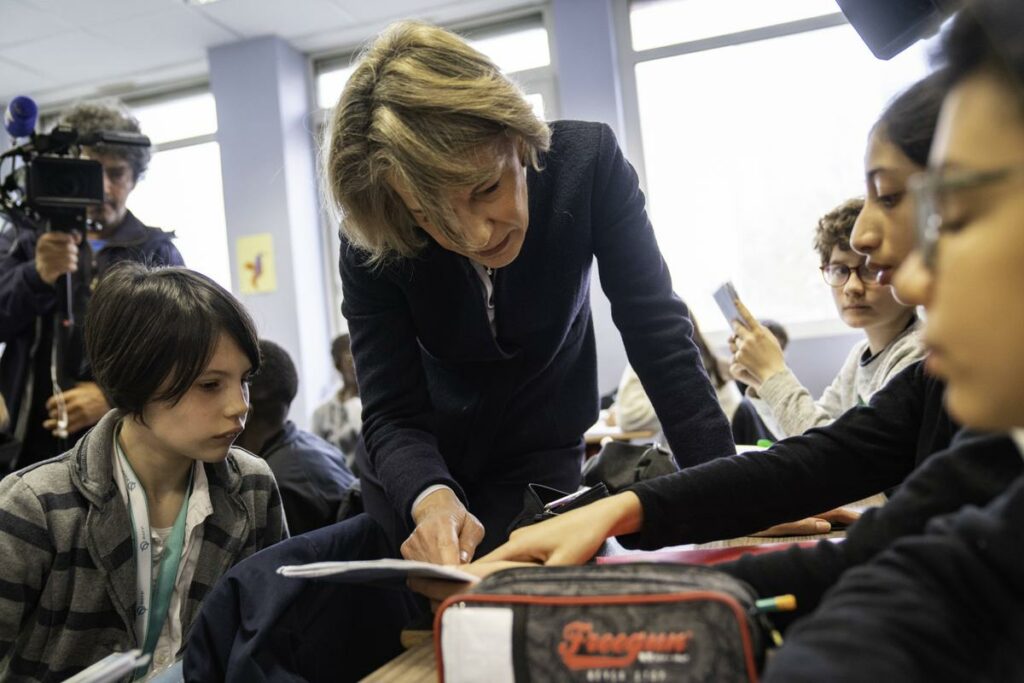
[[[5,681],[62,681],[132,648],[170,665],[210,587],[287,536],[270,469],[231,447],[260,356],[230,294],[126,262],[96,287],[85,337],[114,410],[0,481]]]

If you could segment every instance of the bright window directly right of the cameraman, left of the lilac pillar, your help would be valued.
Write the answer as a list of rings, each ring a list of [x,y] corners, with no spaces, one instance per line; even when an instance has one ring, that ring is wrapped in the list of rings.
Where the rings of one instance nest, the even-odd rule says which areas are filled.
[[[230,290],[213,95],[191,92],[129,106],[153,140],[154,155],[128,207],[146,225],[174,230],[185,264]]]

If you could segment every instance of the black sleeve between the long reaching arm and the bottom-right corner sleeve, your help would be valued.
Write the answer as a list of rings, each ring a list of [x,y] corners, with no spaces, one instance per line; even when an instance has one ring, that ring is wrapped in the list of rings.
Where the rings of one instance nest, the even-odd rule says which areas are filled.
[[[1024,461],[1011,439],[965,434],[911,474],[885,506],[864,512],[845,542],[749,555],[717,568],[751,584],[759,595],[793,593],[798,605],[793,615],[806,614],[846,569],[871,560],[901,538],[924,532],[934,517],[966,505],[987,505],[1022,473]]]

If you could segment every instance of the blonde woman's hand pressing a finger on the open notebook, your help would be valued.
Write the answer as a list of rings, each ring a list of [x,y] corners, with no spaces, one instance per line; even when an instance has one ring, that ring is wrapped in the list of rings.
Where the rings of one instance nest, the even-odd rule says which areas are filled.
[[[416,528],[401,544],[407,560],[434,564],[464,564],[473,559],[483,540],[483,524],[471,515],[450,488],[441,488],[420,501],[413,510]]]

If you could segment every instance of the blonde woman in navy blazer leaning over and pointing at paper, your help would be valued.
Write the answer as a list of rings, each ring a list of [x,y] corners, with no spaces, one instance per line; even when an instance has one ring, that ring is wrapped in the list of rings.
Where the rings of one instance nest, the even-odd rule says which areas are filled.
[[[366,506],[406,557],[466,561],[505,540],[527,483],[578,487],[598,409],[595,257],[680,464],[733,451],[606,125],[546,124],[461,38],[402,22],[345,86],[326,168]]]

